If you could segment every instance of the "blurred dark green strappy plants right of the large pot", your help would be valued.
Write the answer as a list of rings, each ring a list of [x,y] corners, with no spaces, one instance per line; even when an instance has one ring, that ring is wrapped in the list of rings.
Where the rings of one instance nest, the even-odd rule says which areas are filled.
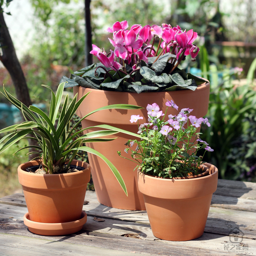
[[[256,160],[251,154],[256,141],[251,129],[255,126],[255,103],[255,90],[249,85],[237,86],[230,74],[224,75],[218,86],[212,84],[208,110],[211,127],[202,139],[215,149],[205,157],[218,166],[222,179],[239,179]]]

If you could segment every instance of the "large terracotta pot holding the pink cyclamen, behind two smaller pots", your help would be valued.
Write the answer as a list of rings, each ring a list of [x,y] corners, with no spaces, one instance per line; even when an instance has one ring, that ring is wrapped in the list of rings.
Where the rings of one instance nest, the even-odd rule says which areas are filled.
[[[182,108],[193,108],[193,115],[203,117],[208,111],[210,83],[204,83],[196,89],[196,91],[182,90],[174,92],[142,92],[140,94],[130,92],[112,92],[103,90],[94,90],[81,86],[73,87],[74,94],[78,93],[80,99],[85,93],[90,94],[85,98],[83,103],[77,110],[77,115],[84,117],[91,111],[111,104],[132,104],[144,107],[141,110],[103,110],[96,112],[82,121],[82,127],[108,124],[134,133],[138,132],[138,125],[130,123],[131,115],[143,116],[141,123],[148,121],[146,107],[148,104],[156,102],[160,110],[166,109],[165,102],[174,100]],[[177,115],[179,111],[169,108],[168,114]],[[86,130],[90,132],[92,130]],[[99,151],[106,156],[121,173],[128,191],[128,197],[124,194],[121,186],[115,176],[109,169],[108,165],[99,157],[88,154],[89,163],[92,166],[92,179],[97,194],[97,198],[101,204],[109,207],[126,209],[126,210],[145,210],[143,196],[138,189],[137,172],[133,172],[136,164],[121,158],[117,155],[117,151],[121,151],[124,155],[124,144],[127,140],[132,139],[131,136],[119,133],[118,139],[104,143],[88,143],[88,146]],[[115,135],[110,137],[117,137]],[[130,157],[126,155],[125,157]]]

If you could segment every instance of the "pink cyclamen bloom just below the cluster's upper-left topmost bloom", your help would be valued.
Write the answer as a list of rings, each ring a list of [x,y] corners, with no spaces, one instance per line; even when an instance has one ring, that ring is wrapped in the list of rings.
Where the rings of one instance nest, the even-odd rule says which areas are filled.
[[[123,60],[127,58],[128,52],[125,49],[124,45],[124,31],[119,30],[117,32],[114,32],[113,34],[113,40],[108,38],[109,42],[115,47],[114,53],[116,57],[120,57]]]

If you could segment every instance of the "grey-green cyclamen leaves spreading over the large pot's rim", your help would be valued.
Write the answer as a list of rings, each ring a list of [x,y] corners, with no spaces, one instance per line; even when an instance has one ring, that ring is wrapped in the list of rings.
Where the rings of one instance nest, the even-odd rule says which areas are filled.
[[[173,54],[166,53],[155,62],[149,58],[148,64],[141,60],[141,65],[136,72],[124,75],[123,72],[114,71],[100,63],[92,64],[72,74],[70,78],[63,76],[60,82],[68,82],[66,87],[80,85],[92,89],[114,90],[118,92],[147,92],[147,91],[172,91],[190,89],[195,91],[198,84],[205,80],[184,70],[175,68],[172,75],[168,72],[172,64],[168,62]],[[153,70],[154,65],[154,70]],[[126,66],[128,67],[128,66]],[[167,71],[165,71],[167,70]]]

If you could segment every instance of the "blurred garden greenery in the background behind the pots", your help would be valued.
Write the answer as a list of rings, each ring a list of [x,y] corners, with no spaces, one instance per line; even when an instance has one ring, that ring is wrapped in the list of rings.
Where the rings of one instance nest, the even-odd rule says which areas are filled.
[[[84,2],[29,0],[29,3],[34,12],[35,33],[32,40],[24,42],[29,47],[20,63],[33,103],[47,106],[50,95],[40,85],[47,84],[56,90],[62,76],[69,77],[84,67]],[[11,6],[12,3],[12,13]],[[202,127],[202,139],[214,152],[204,160],[219,168],[220,178],[255,182],[256,0],[92,0],[90,9],[93,44],[106,50],[113,48],[104,30],[116,20],[127,20],[130,26],[178,24],[198,33],[198,59],[192,63],[187,60],[182,68],[211,82],[207,117],[212,125],[208,129]],[[8,72],[1,67],[0,84],[14,93]],[[6,102],[2,95],[0,102]],[[17,165],[28,159],[22,151],[13,157],[12,151],[16,148],[0,155],[1,183],[13,179],[11,184],[18,184],[14,175]],[[2,189],[0,196],[7,193],[8,189]]]

